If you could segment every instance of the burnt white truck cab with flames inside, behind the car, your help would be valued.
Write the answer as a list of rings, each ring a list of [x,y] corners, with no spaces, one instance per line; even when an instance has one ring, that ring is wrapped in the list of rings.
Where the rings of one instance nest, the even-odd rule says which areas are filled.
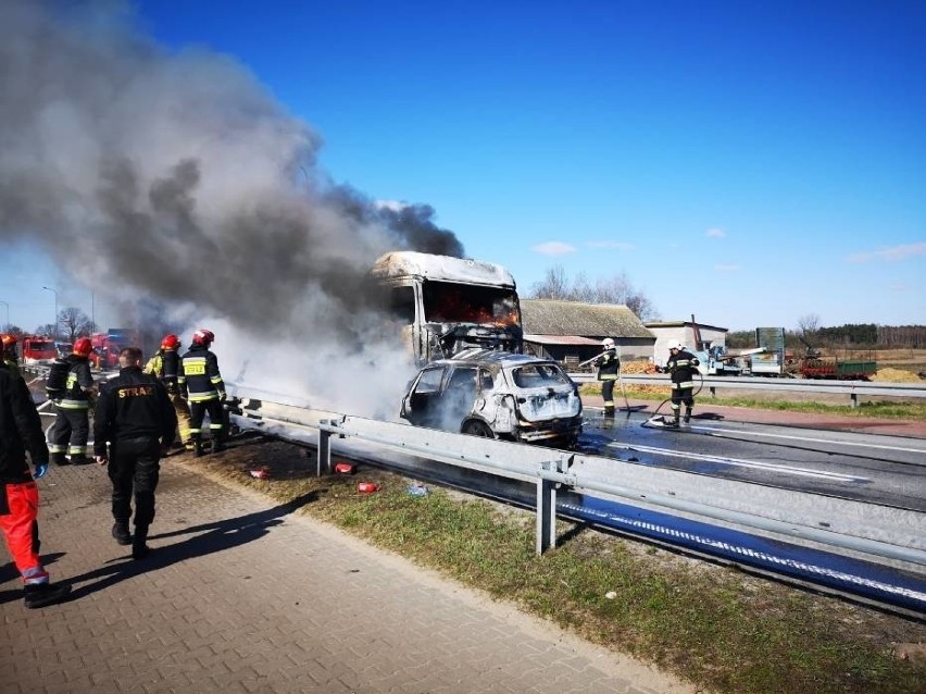
[[[501,265],[393,251],[376,261],[372,274],[387,288],[391,317],[417,363],[470,348],[522,351],[517,289]]]

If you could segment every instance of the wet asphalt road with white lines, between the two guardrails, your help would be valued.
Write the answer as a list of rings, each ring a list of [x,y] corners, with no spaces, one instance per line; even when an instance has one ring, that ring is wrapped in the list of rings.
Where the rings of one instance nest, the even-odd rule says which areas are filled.
[[[630,410],[612,421],[587,408],[580,448],[637,464],[926,512],[926,438],[886,435],[873,424],[847,431],[844,422],[814,424],[808,418],[736,421],[737,413],[709,406],[690,427],[672,430],[648,424],[651,411]]]

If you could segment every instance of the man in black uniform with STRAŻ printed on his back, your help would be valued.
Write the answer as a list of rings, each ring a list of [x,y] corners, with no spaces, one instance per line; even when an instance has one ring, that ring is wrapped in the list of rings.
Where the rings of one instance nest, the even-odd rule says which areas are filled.
[[[107,383],[97,400],[93,455],[109,464],[113,483],[113,537],[132,545],[132,556],[149,553],[148,528],[154,520],[154,489],[161,456],[170,450],[177,416],[158,376],[141,371],[141,350],[125,347],[118,354],[120,374]],[[110,448],[107,451],[107,443]],[[135,535],[128,532],[135,496]]]

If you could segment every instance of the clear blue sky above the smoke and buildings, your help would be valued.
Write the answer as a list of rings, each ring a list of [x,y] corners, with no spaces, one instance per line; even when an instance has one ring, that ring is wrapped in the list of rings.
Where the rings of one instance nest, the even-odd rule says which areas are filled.
[[[559,264],[625,274],[664,320],[926,324],[922,1],[137,11],[166,50],[246,66],[321,136],[333,181],[431,206],[523,295]],[[12,322],[48,321],[47,284],[90,312],[21,258],[0,261]]]

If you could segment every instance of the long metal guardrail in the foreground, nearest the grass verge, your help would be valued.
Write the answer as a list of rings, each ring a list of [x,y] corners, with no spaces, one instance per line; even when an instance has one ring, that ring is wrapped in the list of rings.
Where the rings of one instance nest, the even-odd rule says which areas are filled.
[[[245,397],[243,419],[260,420],[256,426],[267,433],[279,434],[292,425],[317,430],[317,474],[331,471],[331,436],[336,436],[536,484],[538,553],[555,546],[555,497],[562,485],[792,544],[838,548],[926,575],[926,513],[918,511],[310,410],[296,404],[248,400],[241,388],[236,391],[238,397]]]

